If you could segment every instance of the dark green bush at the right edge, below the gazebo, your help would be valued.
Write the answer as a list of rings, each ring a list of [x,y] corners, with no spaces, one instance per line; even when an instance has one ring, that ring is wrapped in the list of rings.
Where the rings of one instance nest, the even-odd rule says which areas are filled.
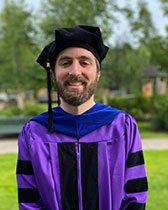
[[[155,96],[153,101],[152,127],[168,131],[168,94]]]

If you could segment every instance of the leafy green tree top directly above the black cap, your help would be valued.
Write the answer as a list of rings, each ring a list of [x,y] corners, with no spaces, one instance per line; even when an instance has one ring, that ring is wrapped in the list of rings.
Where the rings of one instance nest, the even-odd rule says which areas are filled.
[[[85,24],[99,25],[104,39],[107,39],[118,22],[116,13],[125,15],[115,0],[45,0],[41,11],[44,17],[40,28],[44,33],[44,42],[54,39],[56,28]]]

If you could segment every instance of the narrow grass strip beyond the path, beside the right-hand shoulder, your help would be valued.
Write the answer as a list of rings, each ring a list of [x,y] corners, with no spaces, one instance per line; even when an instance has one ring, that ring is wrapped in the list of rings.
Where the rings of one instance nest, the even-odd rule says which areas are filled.
[[[154,131],[150,122],[138,122],[141,138],[168,138],[166,131]]]

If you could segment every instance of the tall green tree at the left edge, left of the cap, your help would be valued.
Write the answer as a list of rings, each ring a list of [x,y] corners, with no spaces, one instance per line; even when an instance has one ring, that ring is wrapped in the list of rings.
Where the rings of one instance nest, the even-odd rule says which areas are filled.
[[[18,92],[42,84],[32,16],[25,8],[24,1],[7,0],[0,14],[1,90]]]

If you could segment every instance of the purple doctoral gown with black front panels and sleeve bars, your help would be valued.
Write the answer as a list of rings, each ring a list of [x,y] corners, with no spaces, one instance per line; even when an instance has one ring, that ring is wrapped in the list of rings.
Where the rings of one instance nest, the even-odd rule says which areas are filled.
[[[118,112],[111,123],[83,135],[48,133],[43,123],[32,120],[24,125],[18,146],[20,210],[145,209],[142,145],[129,114]]]

